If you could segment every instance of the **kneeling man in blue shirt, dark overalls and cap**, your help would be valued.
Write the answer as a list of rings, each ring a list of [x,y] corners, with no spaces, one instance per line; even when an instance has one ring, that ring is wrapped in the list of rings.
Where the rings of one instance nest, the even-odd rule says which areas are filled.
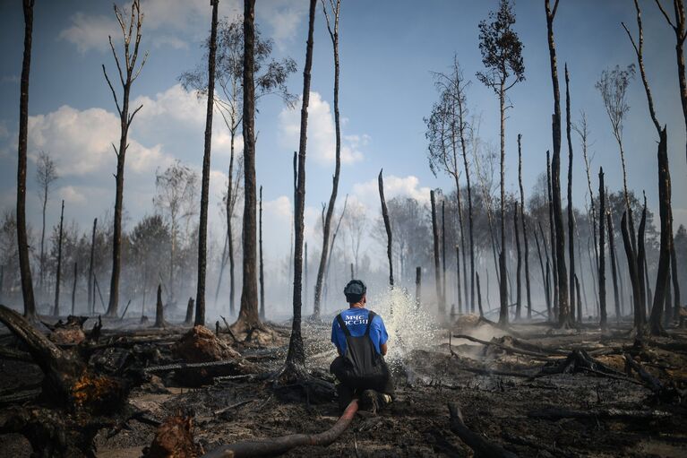
[[[331,341],[339,356],[331,362],[330,371],[339,379],[339,408],[360,396],[375,412],[391,402],[393,382],[384,361],[389,334],[382,316],[365,308],[367,287],[360,280],[348,281],[344,289],[348,309],[334,318]]]

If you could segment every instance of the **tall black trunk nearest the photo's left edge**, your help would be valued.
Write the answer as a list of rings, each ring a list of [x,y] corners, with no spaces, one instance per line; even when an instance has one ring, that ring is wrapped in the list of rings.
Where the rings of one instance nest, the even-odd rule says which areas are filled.
[[[19,272],[21,273],[21,295],[24,299],[24,316],[32,320],[36,317],[36,300],[33,296],[29,240],[26,235],[26,156],[29,132],[29,73],[33,34],[33,0],[23,0],[23,9],[24,56],[21,62],[19,146],[17,154],[17,244],[19,245]]]

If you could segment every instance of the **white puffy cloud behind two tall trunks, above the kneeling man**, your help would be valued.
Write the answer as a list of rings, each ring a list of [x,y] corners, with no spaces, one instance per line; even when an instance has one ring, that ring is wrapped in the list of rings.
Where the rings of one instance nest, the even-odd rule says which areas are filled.
[[[301,97],[302,100],[302,97]],[[300,109],[283,108],[279,113],[279,141],[287,151],[296,151],[300,138]],[[360,148],[370,140],[369,135],[342,135],[341,162],[353,164],[363,160]],[[308,105],[308,157],[322,165],[334,163],[336,159],[336,137],[330,104],[318,92],[310,92]]]

